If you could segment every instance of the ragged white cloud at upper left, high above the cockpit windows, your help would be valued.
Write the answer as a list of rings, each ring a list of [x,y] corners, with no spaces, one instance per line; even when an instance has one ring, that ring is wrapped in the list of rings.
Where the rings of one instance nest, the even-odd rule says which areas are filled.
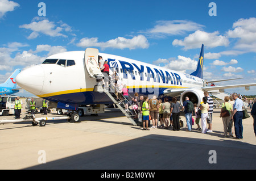
[[[51,37],[56,37],[56,36],[68,37],[67,35],[64,35],[63,33],[60,33],[60,32],[63,31],[63,29],[65,31],[71,31],[71,27],[69,27],[65,23],[61,24],[60,26],[61,27],[57,27],[54,22],[49,22],[48,19],[42,20],[42,18],[36,17],[32,20],[32,23],[20,25],[19,28],[32,30],[32,33],[27,37],[27,39],[35,39],[40,35],[40,33],[43,33],[44,35],[48,35]]]

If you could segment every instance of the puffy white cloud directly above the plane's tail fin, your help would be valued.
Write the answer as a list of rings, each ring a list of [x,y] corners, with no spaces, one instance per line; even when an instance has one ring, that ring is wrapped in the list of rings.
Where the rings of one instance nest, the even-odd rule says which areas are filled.
[[[215,31],[213,33],[208,33],[204,31],[197,30],[196,32],[188,35],[184,38],[184,40],[177,40],[175,39],[172,41],[172,45],[179,45],[184,47],[185,50],[193,49],[193,48],[200,48],[202,44],[205,47],[219,47],[219,46],[228,46],[229,40],[228,37],[218,35],[219,32]]]

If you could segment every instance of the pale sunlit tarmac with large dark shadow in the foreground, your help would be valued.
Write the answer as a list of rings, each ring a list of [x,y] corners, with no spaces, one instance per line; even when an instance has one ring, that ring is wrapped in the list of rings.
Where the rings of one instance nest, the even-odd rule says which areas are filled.
[[[47,116],[58,115],[52,112]],[[80,123],[54,120],[47,121],[45,127],[31,122],[4,124],[0,125],[0,169],[256,169],[253,117],[243,120],[243,139],[236,140],[223,136],[219,116],[220,109],[214,109],[213,133],[207,134],[196,131],[196,125],[192,132],[185,132],[184,116],[181,131],[142,131],[118,108],[106,108],[98,116],[85,115]],[[14,119],[14,115],[1,119]]]

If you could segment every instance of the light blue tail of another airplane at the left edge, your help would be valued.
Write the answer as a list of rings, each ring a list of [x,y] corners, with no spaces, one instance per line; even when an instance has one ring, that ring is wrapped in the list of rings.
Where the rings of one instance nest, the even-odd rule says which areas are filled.
[[[15,78],[16,75],[20,73],[21,69],[16,69],[13,74],[5,81],[5,83],[0,84],[0,95],[11,95],[19,92],[20,89],[16,89]]]

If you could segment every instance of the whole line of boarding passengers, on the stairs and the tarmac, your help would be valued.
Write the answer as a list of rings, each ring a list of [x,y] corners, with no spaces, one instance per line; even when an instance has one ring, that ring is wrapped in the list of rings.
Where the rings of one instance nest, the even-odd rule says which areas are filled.
[[[108,86],[109,83],[109,65],[108,61],[104,61],[101,56],[98,56],[98,63],[106,82],[102,81],[104,85]],[[122,99],[125,97],[125,111],[129,111],[129,106],[127,99],[129,98],[128,89],[126,85],[122,85],[118,75],[114,72],[112,75],[112,80],[114,80],[113,85],[116,88],[115,94],[117,99]],[[121,95],[122,94],[122,95]],[[170,103],[168,98],[156,99],[153,96],[152,99],[148,99],[146,96],[141,96],[140,102],[138,102],[138,93],[135,93],[135,98],[133,98],[133,110],[139,113],[143,121],[143,130],[149,130],[150,120],[152,120],[151,128],[158,128],[158,119],[160,121],[160,128],[168,129],[172,128],[173,131],[180,131],[180,110],[184,111],[185,119],[187,122],[187,130],[191,131],[192,125],[196,122],[197,131],[201,133],[211,133],[212,132],[212,113],[213,113],[213,99],[209,96],[207,91],[204,92],[203,103],[197,107],[197,104],[193,104],[188,97],[185,97],[185,101],[182,106],[177,102],[177,99],[172,98]],[[237,139],[243,138],[243,102],[242,96],[240,94],[234,93],[231,96],[225,96],[225,102],[222,103],[220,117],[222,117],[222,122],[224,126],[224,136],[234,137]],[[244,100],[246,102],[246,98]],[[255,102],[255,100],[254,100]],[[252,108],[253,103],[249,102],[248,107]],[[137,106],[137,107],[136,107]],[[192,112],[195,111],[196,121],[193,121]],[[151,117],[151,118],[150,118]],[[201,118],[201,127],[199,124]],[[170,123],[170,124],[169,124]],[[208,124],[208,128],[207,128]],[[256,126],[255,126],[256,127]],[[256,135],[256,132],[255,132]]]

